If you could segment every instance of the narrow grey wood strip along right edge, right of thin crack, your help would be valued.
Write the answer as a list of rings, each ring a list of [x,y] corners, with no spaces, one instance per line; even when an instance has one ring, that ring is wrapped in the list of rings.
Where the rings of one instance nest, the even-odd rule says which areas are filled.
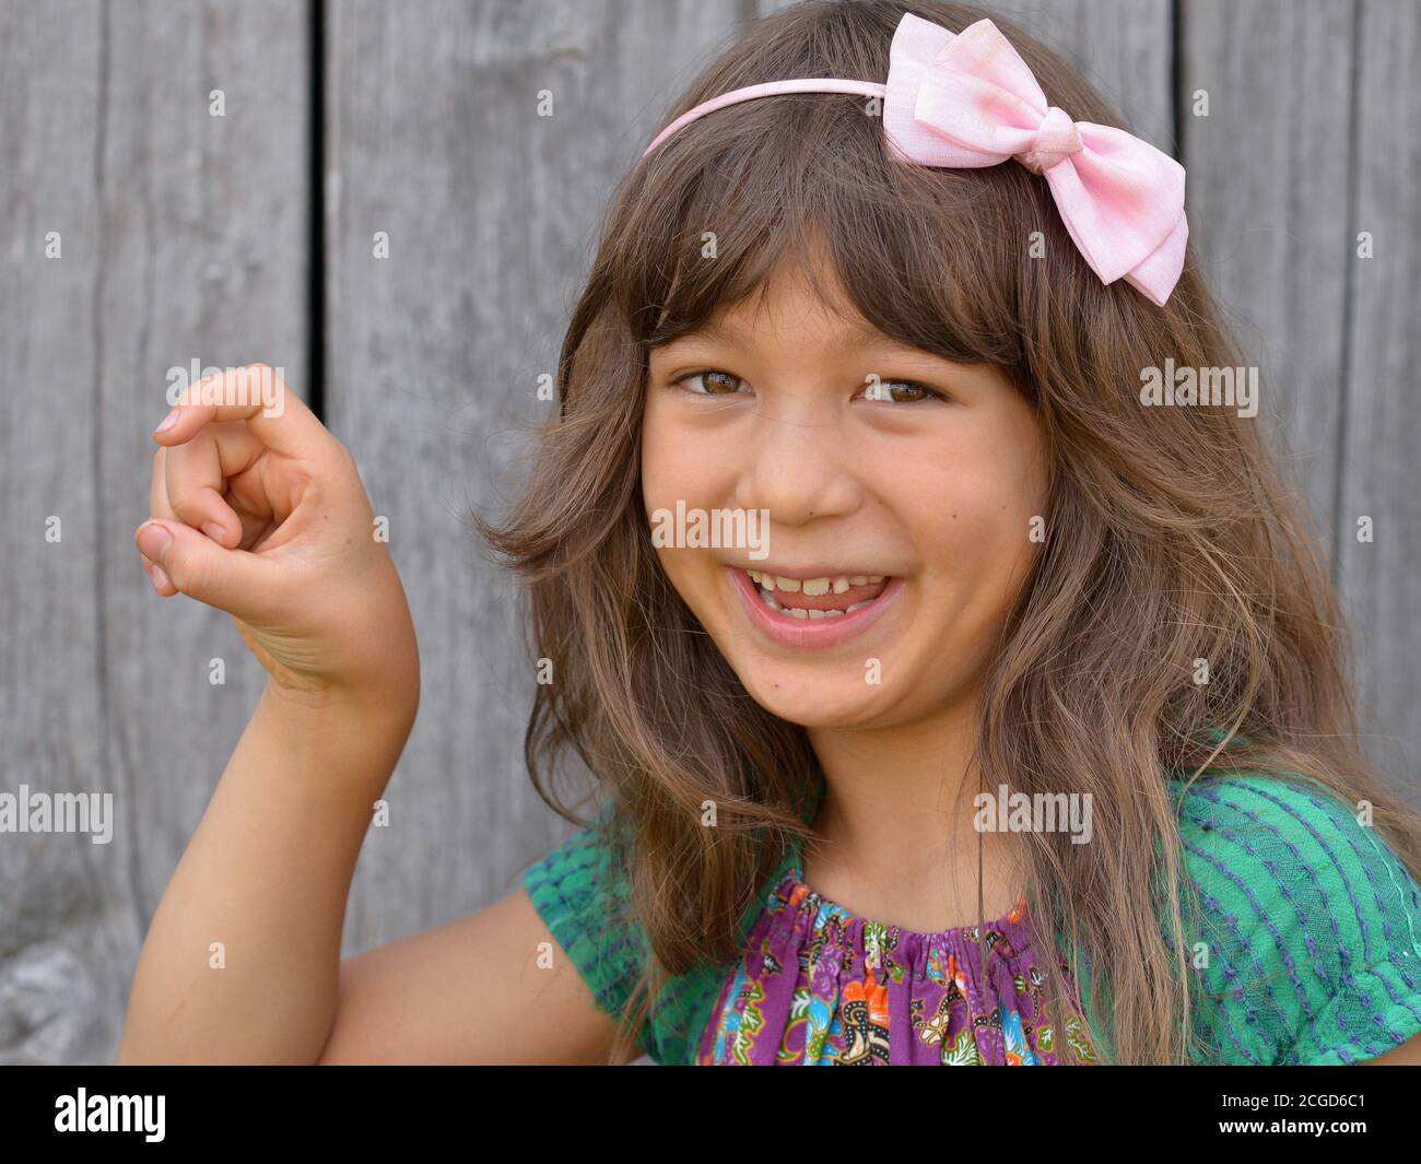
[[[1358,33],[1356,141],[1334,144],[1353,175],[1351,213],[1326,240],[1350,287],[1337,576],[1371,752],[1421,799],[1421,6],[1367,0]],[[1373,259],[1357,257],[1361,230]],[[1363,516],[1370,544],[1357,539]]]

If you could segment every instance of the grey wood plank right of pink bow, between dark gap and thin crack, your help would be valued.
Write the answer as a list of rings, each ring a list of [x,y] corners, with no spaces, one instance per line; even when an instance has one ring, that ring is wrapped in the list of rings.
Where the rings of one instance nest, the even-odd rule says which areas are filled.
[[[1276,433],[1331,551],[1344,399],[1351,10],[1184,0],[1179,101],[1191,239],[1259,365]],[[1208,117],[1194,114],[1208,94]]]

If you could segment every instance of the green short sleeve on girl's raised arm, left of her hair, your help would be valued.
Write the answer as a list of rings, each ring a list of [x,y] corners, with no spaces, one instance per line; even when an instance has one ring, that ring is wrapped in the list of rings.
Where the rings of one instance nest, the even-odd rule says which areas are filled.
[[[524,870],[522,883],[597,1005],[620,1019],[641,976],[645,942],[628,921],[628,881],[608,833],[611,809],[607,802]]]

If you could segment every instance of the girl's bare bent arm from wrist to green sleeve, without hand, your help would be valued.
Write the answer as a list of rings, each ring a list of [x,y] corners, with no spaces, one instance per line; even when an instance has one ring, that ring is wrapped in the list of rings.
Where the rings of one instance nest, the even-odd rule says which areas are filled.
[[[267,688],[153,917],[119,1063],[607,1062],[615,1020],[522,888],[341,965],[355,858],[411,721]]]

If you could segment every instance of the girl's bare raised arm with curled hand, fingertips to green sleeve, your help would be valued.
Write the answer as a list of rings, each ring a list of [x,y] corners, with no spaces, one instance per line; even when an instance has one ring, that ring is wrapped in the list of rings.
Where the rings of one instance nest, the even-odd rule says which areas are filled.
[[[253,375],[284,389],[219,374],[155,431],[153,588],[229,611],[270,678],[153,915],[118,1062],[604,1056],[614,1019],[556,944],[537,968],[553,938],[522,894],[341,965],[419,655],[354,460],[294,394],[267,415],[234,391]]]

